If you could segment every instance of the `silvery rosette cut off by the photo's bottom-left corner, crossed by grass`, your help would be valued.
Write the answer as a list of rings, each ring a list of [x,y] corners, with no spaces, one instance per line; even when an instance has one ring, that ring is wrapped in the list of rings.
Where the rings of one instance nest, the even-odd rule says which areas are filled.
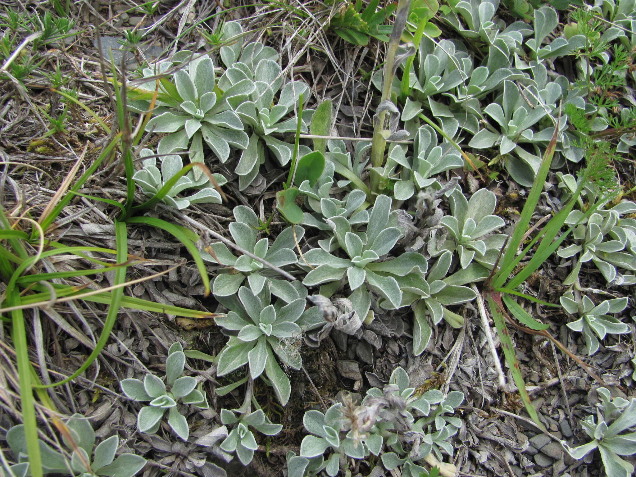
[[[88,419],[81,414],[74,414],[66,420],[69,436],[73,444],[63,437],[67,447],[72,448],[69,462],[64,455],[53,450],[51,446],[38,439],[42,457],[43,473],[62,474],[77,477],[132,477],[146,465],[146,459],[140,455],[123,453],[115,459],[119,446],[119,437],[111,436],[95,446],[95,431]],[[17,464],[8,467],[10,474],[26,477],[29,472],[29,455],[27,452],[24,424],[14,425],[6,433],[6,441],[15,454]],[[86,467],[88,466],[88,468]],[[3,467],[0,466],[0,473]]]

